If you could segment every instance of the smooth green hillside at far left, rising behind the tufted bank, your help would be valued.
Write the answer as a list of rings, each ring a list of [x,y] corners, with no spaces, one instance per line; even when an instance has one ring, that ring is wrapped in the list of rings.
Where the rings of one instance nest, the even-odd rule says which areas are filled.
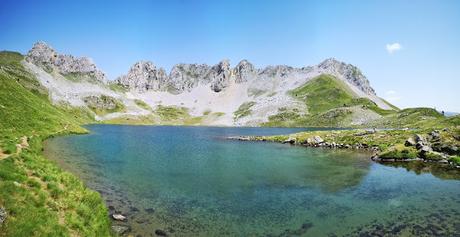
[[[0,130],[52,133],[91,120],[84,111],[52,106],[46,90],[22,67],[22,59],[18,53],[0,52]]]

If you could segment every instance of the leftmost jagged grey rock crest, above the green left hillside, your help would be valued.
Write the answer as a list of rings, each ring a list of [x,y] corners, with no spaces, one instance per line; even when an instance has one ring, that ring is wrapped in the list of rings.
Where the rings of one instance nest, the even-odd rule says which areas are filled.
[[[45,42],[39,41],[34,44],[26,55],[26,61],[42,67],[48,72],[57,72],[68,75],[78,73],[89,76],[98,82],[106,82],[105,74],[97,68],[93,60],[88,57],[77,58],[72,55],[58,54]]]

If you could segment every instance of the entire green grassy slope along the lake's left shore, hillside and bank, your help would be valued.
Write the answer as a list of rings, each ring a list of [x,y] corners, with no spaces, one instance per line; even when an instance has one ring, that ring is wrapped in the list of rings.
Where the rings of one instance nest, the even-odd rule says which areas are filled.
[[[47,137],[85,132],[79,124],[89,117],[51,105],[22,58],[0,52],[0,206],[8,213],[0,236],[109,236],[100,195],[41,153]]]

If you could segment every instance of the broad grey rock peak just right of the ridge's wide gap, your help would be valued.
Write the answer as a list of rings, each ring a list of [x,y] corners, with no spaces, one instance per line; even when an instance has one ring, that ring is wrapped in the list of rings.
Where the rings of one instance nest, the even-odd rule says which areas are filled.
[[[166,90],[168,76],[163,68],[157,68],[150,61],[136,62],[128,71],[128,74],[116,79],[116,83],[126,88],[136,89],[139,92],[149,90]]]

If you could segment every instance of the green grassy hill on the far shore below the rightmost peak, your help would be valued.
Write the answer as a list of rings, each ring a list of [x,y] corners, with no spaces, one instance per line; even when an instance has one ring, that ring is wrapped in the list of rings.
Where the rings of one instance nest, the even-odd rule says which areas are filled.
[[[283,108],[269,117],[265,126],[347,126],[356,113],[381,116],[396,113],[394,106],[395,110],[384,110],[367,98],[357,97],[345,83],[331,75],[320,75],[289,95],[304,102],[308,113]]]

